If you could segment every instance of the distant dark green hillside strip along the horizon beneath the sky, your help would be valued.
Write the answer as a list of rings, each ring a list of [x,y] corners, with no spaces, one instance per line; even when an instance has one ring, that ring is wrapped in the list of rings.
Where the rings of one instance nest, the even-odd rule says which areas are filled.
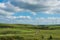
[[[0,24],[0,28],[60,29],[60,25]]]

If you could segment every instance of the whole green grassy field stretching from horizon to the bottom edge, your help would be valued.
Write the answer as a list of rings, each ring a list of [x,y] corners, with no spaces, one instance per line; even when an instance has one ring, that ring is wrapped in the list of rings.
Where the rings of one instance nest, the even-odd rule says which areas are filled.
[[[45,27],[41,29],[41,26],[36,25],[0,24],[0,40],[60,40],[60,26],[49,25],[53,30]]]

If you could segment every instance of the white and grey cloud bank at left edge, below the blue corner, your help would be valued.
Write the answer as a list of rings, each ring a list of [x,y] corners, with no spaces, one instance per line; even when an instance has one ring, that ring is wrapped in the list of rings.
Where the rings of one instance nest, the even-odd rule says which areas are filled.
[[[20,12],[20,11],[23,11],[23,9],[13,6],[12,4],[10,4],[10,2],[0,3],[0,16],[15,18],[12,15],[15,14],[15,12]]]

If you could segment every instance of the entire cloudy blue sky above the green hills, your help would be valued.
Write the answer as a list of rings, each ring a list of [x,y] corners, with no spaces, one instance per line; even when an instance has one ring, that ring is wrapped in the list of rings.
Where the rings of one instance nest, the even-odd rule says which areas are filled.
[[[0,23],[60,24],[60,0],[0,0]]]

